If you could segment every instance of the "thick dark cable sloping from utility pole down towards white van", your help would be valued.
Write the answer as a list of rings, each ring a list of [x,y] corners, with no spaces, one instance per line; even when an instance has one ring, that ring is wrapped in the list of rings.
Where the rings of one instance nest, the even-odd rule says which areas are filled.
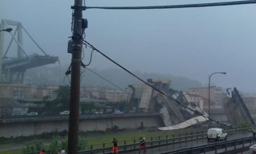
[[[147,86],[150,86],[150,88],[156,90],[157,92],[161,93],[162,95],[164,96],[167,96],[168,98],[170,98],[170,100],[172,100],[173,102],[179,104],[179,105],[182,105],[183,107],[185,107],[186,109],[192,111],[192,112],[195,112],[196,114],[200,115],[200,116],[204,116],[204,118],[208,118],[210,120],[209,117],[206,117],[204,114],[202,114],[201,112],[198,112],[198,111],[195,111],[189,107],[187,107],[186,105],[180,103],[179,101],[175,100],[174,98],[172,98],[171,96],[169,95],[166,95],[165,93],[163,93],[162,91],[160,91],[159,89],[157,88],[154,88],[154,86],[151,86],[150,84],[148,84],[146,81],[143,81],[143,79],[140,79],[140,77],[137,77],[136,75],[134,75],[134,73],[132,73],[131,71],[127,70],[126,68],[124,68],[124,66],[116,63],[116,61],[114,61],[113,59],[109,58],[108,56],[106,56],[106,54],[103,54],[102,52],[100,52],[100,50],[96,49],[95,47],[93,47],[93,45],[91,45],[90,43],[86,42],[86,40],[83,40],[83,42],[87,43],[87,45],[89,47],[91,47],[93,50],[96,50],[97,52],[99,52],[102,56],[104,56],[105,58],[109,59],[109,61],[111,61],[112,63],[115,63],[115,65],[119,66],[120,68],[122,68],[123,70],[125,70],[126,72],[130,73],[133,77],[136,77],[138,80],[140,80],[141,82],[143,82],[144,84],[147,84]],[[211,119],[212,121],[215,121],[214,119]],[[215,121],[216,123],[219,123],[220,125],[224,125],[218,121]],[[227,125],[224,125],[225,127],[227,127]]]

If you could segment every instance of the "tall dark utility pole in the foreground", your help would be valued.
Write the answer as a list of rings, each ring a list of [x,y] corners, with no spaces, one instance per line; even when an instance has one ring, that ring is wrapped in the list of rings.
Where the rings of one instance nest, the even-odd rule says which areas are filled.
[[[68,153],[78,153],[79,130],[79,98],[80,98],[80,73],[81,53],[83,45],[81,6],[83,0],[75,0],[73,20],[74,30],[72,35],[72,61],[71,61],[71,86],[70,86],[70,114],[68,123]]]

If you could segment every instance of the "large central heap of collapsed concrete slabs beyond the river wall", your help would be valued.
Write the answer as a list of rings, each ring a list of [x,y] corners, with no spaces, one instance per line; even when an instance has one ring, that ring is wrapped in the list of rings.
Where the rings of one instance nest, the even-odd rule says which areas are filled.
[[[173,100],[150,88],[146,84],[132,84],[129,85],[130,89],[128,90],[129,93],[132,93],[132,95],[129,100],[127,99],[127,102],[129,102],[131,108],[136,107],[138,112],[161,112],[163,114],[163,123],[166,126],[163,128],[163,130],[168,130],[168,128],[174,129],[173,127],[185,128],[207,120],[206,118],[202,119],[195,112],[190,111],[186,109],[186,107],[183,107],[175,102],[178,101],[196,112],[205,114],[206,117],[208,116],[207,113],[204,112],[200,106],[198,106],[198,104],[188,102],[182,91],[176,91],[170,88],[170,80],[148,79],[147,81],[154,88],[159,89],[168,96],[172,96]],[[125,98],[129,97],[125,96]],[[191,124],[182,124],[188,124],[188,122]],[[171,125],[174,126],[170,127]]]

